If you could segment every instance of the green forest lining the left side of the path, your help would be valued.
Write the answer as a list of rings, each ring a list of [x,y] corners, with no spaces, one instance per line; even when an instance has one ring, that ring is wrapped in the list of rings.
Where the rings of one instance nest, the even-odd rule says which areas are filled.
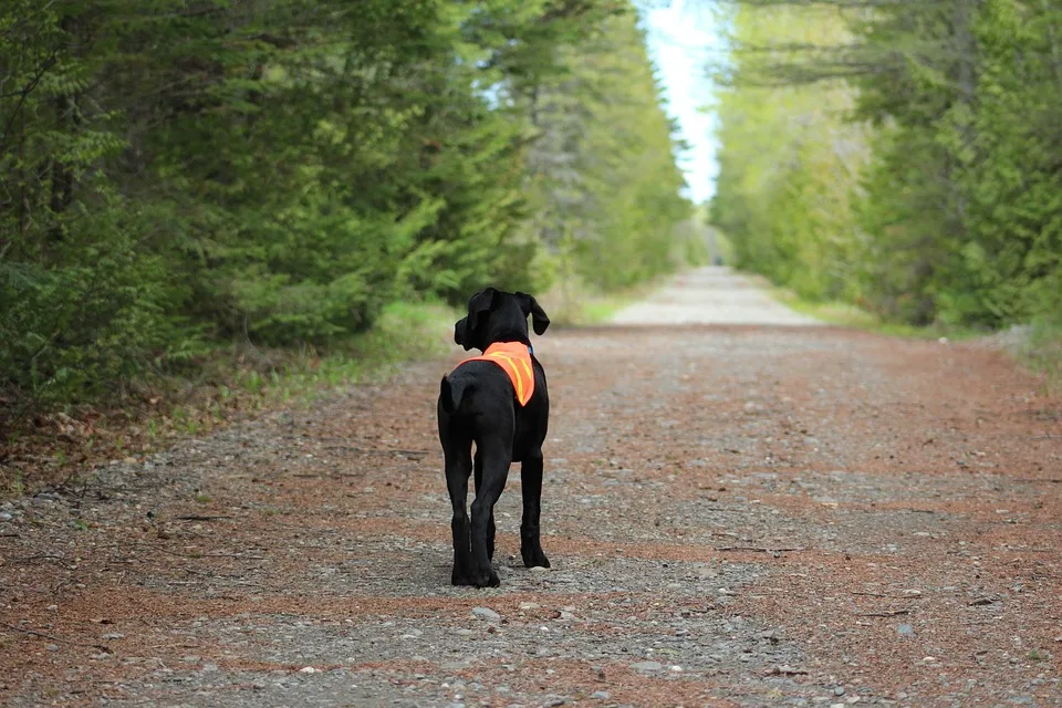
[[[697,257],[628,0],[10,0],[0,424]]]

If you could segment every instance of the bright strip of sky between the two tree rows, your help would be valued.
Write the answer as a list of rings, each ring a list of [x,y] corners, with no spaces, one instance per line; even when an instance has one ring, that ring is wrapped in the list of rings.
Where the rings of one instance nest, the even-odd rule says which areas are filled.
[[[677,119],[680,136],[689,144],[689,149],[679,155],[687,196],[698,204],[715,194],[719,171],[715,116],[704,106],[712,90],[707,76],[709,51],[718,50],[720,41],[706,4],[698,0],[642,3],[649,56],[663,83],[667,112]]]

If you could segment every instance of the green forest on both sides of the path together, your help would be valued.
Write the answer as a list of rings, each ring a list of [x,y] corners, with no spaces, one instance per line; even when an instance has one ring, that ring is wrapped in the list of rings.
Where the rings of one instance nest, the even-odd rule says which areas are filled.
[[[645,3],[3,3],[0,426],[342,352],[486,282],[622,292],[704,262],[704,211],[808,301],[1058,325],[1062,6],[687,4],[728,39],[689,66],[717,85],[707,209]]]

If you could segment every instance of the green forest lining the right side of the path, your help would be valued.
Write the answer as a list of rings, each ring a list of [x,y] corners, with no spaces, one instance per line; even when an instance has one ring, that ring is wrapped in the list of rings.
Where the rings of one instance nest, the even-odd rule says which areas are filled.
[[[720,8],[711,220],[740,267],[886,321],[1058,325],[1062,4]]]

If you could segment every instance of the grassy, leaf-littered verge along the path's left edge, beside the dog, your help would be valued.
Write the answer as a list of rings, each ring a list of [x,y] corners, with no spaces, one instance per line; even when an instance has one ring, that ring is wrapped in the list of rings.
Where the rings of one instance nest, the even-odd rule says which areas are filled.
[[[381,381],[403,363],[444,354],[457,314],[438,303],[388,305],[369,331],[327,352],[216,350],[194,375],[153,381],[121,405],[42,414],[0,439],[0,499],[76,481],[112,460],[280,407],[306,407],[351,384]]]

